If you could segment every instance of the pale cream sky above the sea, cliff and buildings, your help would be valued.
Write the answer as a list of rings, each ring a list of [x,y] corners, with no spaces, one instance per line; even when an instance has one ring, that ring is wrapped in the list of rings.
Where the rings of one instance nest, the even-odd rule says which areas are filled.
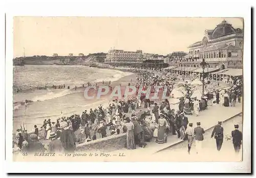
[[[14,17],[14,57],[125,51],[168,54],[187,52],[223,18],[163,17]],[[225,18],[243,28],[242,18]]]

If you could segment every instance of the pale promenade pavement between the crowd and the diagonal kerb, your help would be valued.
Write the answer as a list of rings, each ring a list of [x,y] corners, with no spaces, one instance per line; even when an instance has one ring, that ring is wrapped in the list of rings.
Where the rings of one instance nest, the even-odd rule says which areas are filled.
[[[226,121],[240,113],[242,113],[242,103],[237,103],[235,107],[224,107],[220,104],[214,104],[209,106],[207,110],[200,112],[198,117],[196,116],[187,116],[188,122],[193,123],[195,127],[197,122],[201,122],[201,127],[204,130],[208,130],[218,124],[218,121]],[[171,133],[167,137],[167,143],[158,144],[156,142],[146,142],[147,145],[145,148],[137,147],[134,150],[127,150],[123,148],[121,150],[111,151],[111,154],[119,154],[124,153],[126,157],[134,157],[134,155],[142,155],[142,154],[153,154],[158,151],[164,150],[168,147],[181,143],[183,140],[178,139],[177,135],[172,135]],[[123,160],[123,159],[122,159]],[[121,160],[120,160],[121,161]]]

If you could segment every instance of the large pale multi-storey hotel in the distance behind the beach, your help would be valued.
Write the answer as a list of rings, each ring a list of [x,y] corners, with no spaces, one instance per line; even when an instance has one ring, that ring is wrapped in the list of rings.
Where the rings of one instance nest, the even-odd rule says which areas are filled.
[[[143,54],[142,50],[133,51],[123,51],[123,50],[109,50],[106,55],[104,62],[142,62]]]

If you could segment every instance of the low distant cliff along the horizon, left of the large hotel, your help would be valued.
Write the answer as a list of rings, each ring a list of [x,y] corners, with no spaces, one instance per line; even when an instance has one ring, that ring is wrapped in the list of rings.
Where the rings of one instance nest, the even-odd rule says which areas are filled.
[[[87,56],[29,56],[13,59],[13,65],[92,65],[95,62],[104,62],[106,53],[94,53]]]

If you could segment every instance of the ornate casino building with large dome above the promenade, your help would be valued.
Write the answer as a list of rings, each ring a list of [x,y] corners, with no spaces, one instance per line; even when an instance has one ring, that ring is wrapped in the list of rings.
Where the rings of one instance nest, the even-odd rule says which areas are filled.
[[[205,59],[208,71],[243,68],[243,30],[233,28],[226,20],[214,30],[205,30],[202,40],[190,44],[188,49],[188,55],[176,61],[176,66],[200,68]]]

